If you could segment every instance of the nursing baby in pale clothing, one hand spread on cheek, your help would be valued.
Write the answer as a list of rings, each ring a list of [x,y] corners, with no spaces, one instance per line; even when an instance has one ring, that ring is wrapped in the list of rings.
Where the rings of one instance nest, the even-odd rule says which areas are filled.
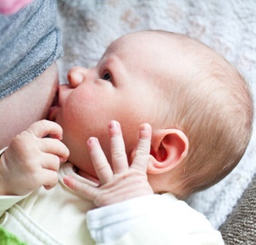
[[[49,113],[62,128],[40,121],[2,155],[0,193],[17,196],[1,197],[1,214],[21,211],[67,244],[94,244],[85,222],[97,243],[223,244],[220,233],[176,197],[220,181],[246,150],[253,103],[237,70],[184,35],[141,31],[112,42],[95,68],[72,68],[68,80]],[[48,134],[56,139],[43,138]],[[62,184],[56,184],[66,158],[75,168],[62,164]],[[129,182],[138,171],[141,185]],[[43,185],[50,190],[38,189]],[[88,199],[102,208],[91,210]],[[3,223],[12,231],[10,217]]]

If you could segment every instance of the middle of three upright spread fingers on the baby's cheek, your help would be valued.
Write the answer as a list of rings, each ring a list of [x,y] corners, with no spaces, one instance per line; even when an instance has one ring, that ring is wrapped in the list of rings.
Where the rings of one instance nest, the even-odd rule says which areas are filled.
[[[128,159],[121,134],[121,126],[117,121],[110,121],[108,125],[110,135],[110,149],[114,173],[128,171]]]

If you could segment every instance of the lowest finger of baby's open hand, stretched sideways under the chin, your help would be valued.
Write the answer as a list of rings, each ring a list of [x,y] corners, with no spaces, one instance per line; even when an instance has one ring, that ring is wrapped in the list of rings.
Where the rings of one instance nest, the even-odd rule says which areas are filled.
[[[69,175],[67,175],[63,178],[63,182],[71,190],[74,190],[76,193],[82,195],[82,197],[86,197],[87,199],[89,199],[91,201],[94,200],[96,193],[97,193],[96,187],[91,186],[89,184],[84,184]]]

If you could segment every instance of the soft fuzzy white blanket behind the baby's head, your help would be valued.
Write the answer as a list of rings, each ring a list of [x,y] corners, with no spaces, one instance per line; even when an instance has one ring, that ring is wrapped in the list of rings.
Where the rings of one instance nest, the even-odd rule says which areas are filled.
[[[60,0],[59,24],[65,54],[62,82],[69,68],[91,67],[108,44],[141,29],[190,35],[214,48],[240,69],[256,96],[256,1]],[[254,122],[255,126],[255,122]],[[226,221],[256,172],[256,137],[234,171],[187,202],[218,229]]]

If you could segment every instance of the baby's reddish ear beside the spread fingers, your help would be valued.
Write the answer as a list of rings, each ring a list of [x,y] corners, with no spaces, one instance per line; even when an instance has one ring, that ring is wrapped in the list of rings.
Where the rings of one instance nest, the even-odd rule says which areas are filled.
[[[148,173],[160,174],[172,170],[187,157],[188,139],[178,129],[152,132]]]

